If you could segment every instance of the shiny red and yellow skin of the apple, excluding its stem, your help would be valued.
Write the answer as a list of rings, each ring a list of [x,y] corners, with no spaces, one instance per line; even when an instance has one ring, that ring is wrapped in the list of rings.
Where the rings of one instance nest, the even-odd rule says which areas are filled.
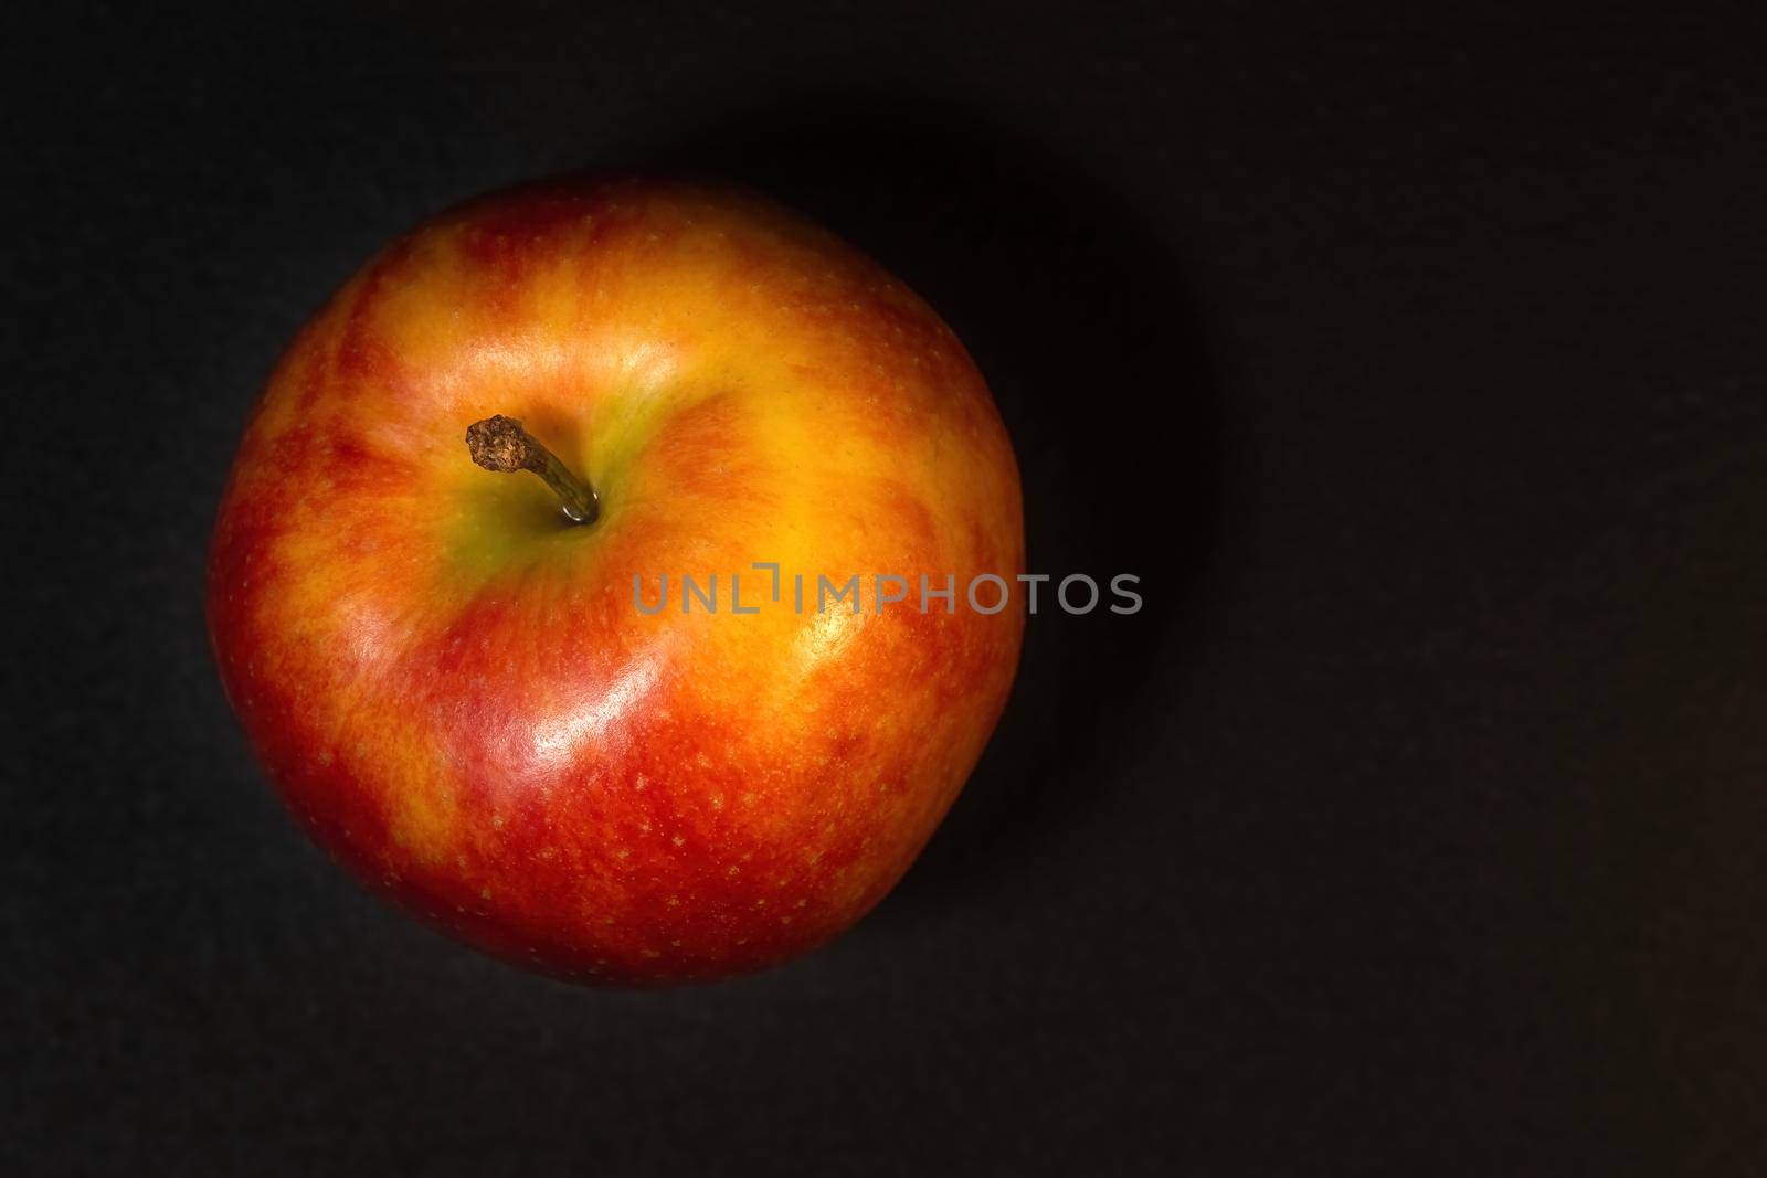
[[[595,523],[472,464],[493,413],[588,477]],[[756,194],[590,177],[429,221],[302,328],[207,606],[263,766],[359,880],[505,961],[648,985],[799,955],[894,887],[1018,664],[1021,586],[995,615],[965,586],[1021,570],[1011,443],[924,302]],[[682,574],[717,574],[716,615]],[[862,613],[816,613],[818,574],[861,574]],[[878,611],[875,574],[908,600]]]

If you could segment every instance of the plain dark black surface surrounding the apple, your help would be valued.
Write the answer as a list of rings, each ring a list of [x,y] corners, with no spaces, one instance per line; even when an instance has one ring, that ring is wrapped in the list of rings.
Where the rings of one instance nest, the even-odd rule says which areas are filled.
[[[0,1167],[1767,1167],[1753,4],[7,7]],[[387,238],[756,182],[988,374],[1039,616],[903,887],[595,993],[283,816],[200,572]]]

